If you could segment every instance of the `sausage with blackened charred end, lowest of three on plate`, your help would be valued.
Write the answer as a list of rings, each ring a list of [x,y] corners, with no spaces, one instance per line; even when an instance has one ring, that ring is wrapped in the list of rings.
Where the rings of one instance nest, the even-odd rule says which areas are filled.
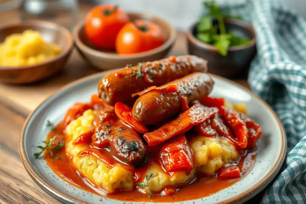
[[[135,165],[145,157],[146,148],[138,132],[123,124],[113,110],[100,110],[94,123],[92,146],[111,147],[114,156],[127,164]]]

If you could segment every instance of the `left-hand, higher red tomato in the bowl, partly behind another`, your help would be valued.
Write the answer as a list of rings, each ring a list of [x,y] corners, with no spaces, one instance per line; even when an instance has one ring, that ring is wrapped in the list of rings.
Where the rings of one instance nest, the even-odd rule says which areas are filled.
[[[128,14],[118,6],[99,5],[86,15],[84,30],[95,46],[114,49],[118,32],[128,22]]]

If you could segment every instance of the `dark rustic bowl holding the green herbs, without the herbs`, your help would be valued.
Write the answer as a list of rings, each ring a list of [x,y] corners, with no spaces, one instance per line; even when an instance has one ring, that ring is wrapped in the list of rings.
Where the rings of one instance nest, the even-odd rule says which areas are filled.
[[[233,18],[224,19],[226,31],[251,39],[251,43],[245,46],[230,47],[227,56],[220,55],[215,46],[198,40],[196,26],[193,24],[187,33],[188,52],[208,60],[208,72],[227,77],[237,77],[246,72],[252,59],[256,55],[256,36],[251,24]],[[216,24],[216,20],[213,22]]]

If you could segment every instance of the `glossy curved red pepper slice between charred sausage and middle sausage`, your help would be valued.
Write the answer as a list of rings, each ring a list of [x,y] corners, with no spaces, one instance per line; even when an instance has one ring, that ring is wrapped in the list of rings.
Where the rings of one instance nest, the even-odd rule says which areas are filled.
[[[144,134],[148,132],[147,127],[144,124],[136,121],[132,116],[132,109],[125,105],[124,103],[117,102],[115,104],[115,113],[117,117],[126,125],[129,125],[131,128],[137,132]]]

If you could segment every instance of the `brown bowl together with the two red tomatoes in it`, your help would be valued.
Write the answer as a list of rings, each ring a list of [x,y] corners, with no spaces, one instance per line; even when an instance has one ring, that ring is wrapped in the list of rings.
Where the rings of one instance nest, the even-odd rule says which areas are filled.
[[[73,37],[86,61],[108,70],[164,58],[177,33],[154,14],[125,13],[118,6],[100,5],[76,25]]]

